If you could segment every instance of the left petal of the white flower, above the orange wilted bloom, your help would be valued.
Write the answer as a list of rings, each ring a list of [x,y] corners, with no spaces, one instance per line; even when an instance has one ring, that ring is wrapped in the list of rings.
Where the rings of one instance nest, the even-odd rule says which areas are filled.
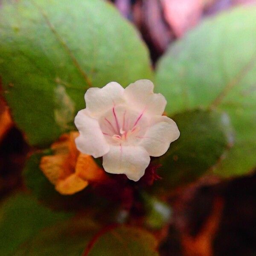
[[[75,125],[79,130],[76,147],[84,154],[102,157],[109,151],[109,145],[99,127],[99,122],[88,115],[86,109],[80,110],[75,117]]]

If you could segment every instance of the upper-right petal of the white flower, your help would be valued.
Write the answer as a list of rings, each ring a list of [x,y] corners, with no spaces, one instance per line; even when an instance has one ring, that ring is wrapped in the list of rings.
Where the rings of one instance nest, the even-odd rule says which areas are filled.
[[[138,111],[146,111],[151,115],[162,115],[166,107],[166,99],[160,93],[154,93],[154,84],[150,80],[138,80],[125,88],[124,98],[128,105]]]

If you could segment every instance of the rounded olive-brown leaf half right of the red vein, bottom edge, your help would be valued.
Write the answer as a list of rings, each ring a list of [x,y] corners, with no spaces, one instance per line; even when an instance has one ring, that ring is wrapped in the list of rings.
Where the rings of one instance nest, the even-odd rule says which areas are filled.
[[[97,237],[88,256],[157,256],[157,240],[151,233],[136,227],[116,227]]]

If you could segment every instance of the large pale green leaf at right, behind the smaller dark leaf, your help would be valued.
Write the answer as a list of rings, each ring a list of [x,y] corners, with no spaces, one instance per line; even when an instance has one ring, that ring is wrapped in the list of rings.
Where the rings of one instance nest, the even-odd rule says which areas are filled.
[[[157,65],[157,90],[170,116],[198,108],[230,116],[235,143],[215,166],[219,175],[241,175],[256,165],[255,42],[256,8],[241,7],[205,20]]]

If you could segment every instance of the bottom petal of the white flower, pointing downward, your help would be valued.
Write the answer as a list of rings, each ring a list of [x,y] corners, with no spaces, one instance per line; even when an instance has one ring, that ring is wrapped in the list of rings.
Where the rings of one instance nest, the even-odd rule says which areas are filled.
[[[138,146],[111,146],[103,156],[106,172],[125,174],[130,180],[138,181],[150,162],[148,152]]]

